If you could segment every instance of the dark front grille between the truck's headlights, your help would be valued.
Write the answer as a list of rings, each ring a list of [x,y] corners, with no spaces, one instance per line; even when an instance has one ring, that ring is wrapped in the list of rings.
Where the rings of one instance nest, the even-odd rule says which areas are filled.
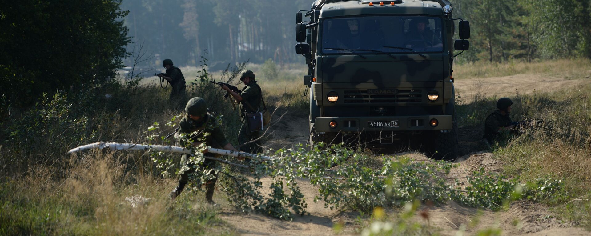
[[[345,90],[344,93],[346,104],[418,104],[423,102],[423,91],[417,89],[398,90],[396,94],[368,94],[368,90]]]

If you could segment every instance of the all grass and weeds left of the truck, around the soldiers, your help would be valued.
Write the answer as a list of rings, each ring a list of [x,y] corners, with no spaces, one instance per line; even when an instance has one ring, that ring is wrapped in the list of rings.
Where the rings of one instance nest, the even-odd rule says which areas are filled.
[[[307,111],[303,85],[287,79],[261,84],[271,111],[279,106]],[[206,98],[213,114],[223,115],[222,129],[236,145],[238,112],[222,90],[210,84],[187,90]],[[169,91],[147,80],[121,80],[47,95],[28,109],[0,103],[0,114],[8,114],[0,121],[0,235],[235,234],[205,206],[202,193],[187,190],[171,203],[168,193],[176,177],[161,177],[142,153],[64,155],[97,141],[146,142],[145,131],[155,121],[164,124],[183,113],[168,103]],[[133,208],[125,198],[136,195],[150,202]]]

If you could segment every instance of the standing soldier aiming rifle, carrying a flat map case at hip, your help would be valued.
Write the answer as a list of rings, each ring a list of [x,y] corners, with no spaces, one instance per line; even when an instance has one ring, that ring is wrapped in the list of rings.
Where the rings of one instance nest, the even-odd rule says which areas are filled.
[[[244,83],[241,93],[233,92],[228,86],[222,86],[222,89],[228,91],[236,101],[240,102],[240,117],[242,118],[242,127],[238,132],[238,142],[241,145],[240,150],[247,153],[261,153],[261,140],[246,144],[252,140],[261,137],[259,131],[251,132],[248,128],[246,113],[258,112],[262,101],[262,90],[256,84],[256,76],[251,70],[243,70],[240,73],[240,80]]]

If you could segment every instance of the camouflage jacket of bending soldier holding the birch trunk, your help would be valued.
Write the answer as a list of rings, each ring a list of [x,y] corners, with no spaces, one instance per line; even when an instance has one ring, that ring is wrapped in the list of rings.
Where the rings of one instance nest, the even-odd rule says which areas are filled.
[[[222,129],[219,127],[219,124],[217,124],[216,119],[209,113],[204,121],[194,121],[189,115],[187,115],[181,119],[178,125],[180,126],[180,130],[178,130],[176,135],[177,138],[180,138],[180,135],[178,134],[193,134],[194,132],[197,132],[197,134],[189,138],[193,143],[202,143],[204,141],[207,146],[213,148],[223,148],[229,143],[228,140],[226,140]],[[204,133],[209,133],[209,135],[204,137]],[[184,145],[182,140],[179,141]]]

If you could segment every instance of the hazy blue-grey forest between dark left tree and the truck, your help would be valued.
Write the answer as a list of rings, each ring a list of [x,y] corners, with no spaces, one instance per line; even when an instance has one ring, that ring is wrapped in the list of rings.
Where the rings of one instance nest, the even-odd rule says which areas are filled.
[[[294,53],[295,13],[313,1],[126,0],[125,25],[134,41],[158,54],[154,64],[172,58],[198,65],[207,51],[210,66],[250,59],[262,63],[302,62]],[[223,68],[222,68],[223,69]]]

